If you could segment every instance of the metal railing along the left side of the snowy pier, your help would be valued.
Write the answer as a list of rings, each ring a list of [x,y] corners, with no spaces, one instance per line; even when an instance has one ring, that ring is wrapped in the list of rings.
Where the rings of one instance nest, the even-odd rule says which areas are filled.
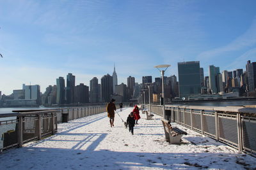
[[[116,104],[116,109],[118,108]],[[0,114],[0,153],[8,148],[21,147],[29,141],[55,134],[60,122],[105,111],[106,106],[92,106]]]

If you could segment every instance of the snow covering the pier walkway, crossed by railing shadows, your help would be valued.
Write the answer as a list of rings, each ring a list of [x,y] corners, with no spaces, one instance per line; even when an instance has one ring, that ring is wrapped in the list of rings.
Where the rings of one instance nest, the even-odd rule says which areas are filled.
[[[132,108],[119,112],[126,120]],[[134,127],[134,135],[115,115],[110,127],[106,113],[58,124],[58,133],[0,155],[0,169],[255,169],[256,158],[188,132],[182,144],[164,141],[161,117]]]

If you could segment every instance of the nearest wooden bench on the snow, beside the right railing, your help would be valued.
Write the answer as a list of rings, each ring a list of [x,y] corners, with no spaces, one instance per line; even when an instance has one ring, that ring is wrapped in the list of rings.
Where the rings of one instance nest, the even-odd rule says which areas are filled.
[[[185,135],[188,134],[187,132],[182,131],[178,127],[172,127],[171,122],[166,119],[162,119],[162,123],[164,127],[165,139],[170,144],[173,144],[173,143],[179,144],[181,142],[181,137],[184,134]]]

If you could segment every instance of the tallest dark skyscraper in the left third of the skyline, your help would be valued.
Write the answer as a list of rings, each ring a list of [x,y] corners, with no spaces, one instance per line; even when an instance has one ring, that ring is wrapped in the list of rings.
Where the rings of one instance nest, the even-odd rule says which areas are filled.
[[[65,100],[67,104],[74,103],[75,80],[76,76],[72,75],[72,73],[67,74],[67,87],[65,92]]]

